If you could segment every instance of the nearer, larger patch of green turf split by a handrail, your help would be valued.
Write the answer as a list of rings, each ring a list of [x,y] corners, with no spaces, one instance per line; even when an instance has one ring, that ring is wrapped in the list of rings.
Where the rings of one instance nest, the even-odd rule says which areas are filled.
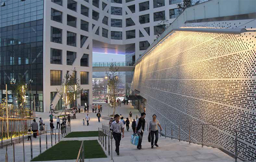
[[[31,161],[76,159],[82,141],[60,141]],[[84,141],[85,159],[107,157],[97,140]]]

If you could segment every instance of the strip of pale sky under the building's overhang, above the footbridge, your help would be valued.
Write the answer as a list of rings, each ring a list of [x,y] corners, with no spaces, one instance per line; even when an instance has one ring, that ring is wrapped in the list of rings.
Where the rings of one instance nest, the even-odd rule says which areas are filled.
[[[92,52],[92,62],[123,62],[126,61],[125,54],[104,54]]]

